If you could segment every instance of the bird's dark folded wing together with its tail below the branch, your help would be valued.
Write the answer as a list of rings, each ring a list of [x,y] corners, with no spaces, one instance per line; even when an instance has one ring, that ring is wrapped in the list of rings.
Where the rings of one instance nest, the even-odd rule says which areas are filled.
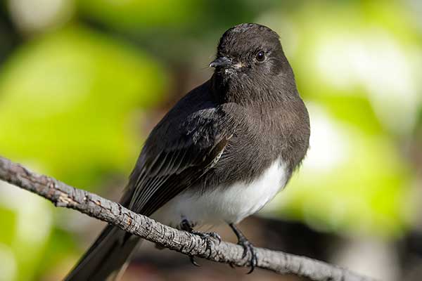
[[[217,163],[230,138],[217,129],[217,117],[192,117],[179,126],[185,117],[170,112],[151,132],[120,200],[125,207],[149,216]],[[66,280],[105,280],[118,272],[139,242],[131,237],[108,226]]]

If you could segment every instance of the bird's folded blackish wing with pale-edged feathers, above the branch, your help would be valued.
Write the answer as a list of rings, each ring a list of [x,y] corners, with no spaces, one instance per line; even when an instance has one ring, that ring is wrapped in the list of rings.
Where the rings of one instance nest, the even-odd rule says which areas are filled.
[[[160,150],[148,150],[148,145],[154,144],[147,141],[130,177],[129,209],[149,216],[212,169],[230,136],[217,133],[215,128],[208,126],[209,120],[207,124],[201,123],[196,124],[196,129],[175,133]],[[151,136],[150,139],[160,141]]]

